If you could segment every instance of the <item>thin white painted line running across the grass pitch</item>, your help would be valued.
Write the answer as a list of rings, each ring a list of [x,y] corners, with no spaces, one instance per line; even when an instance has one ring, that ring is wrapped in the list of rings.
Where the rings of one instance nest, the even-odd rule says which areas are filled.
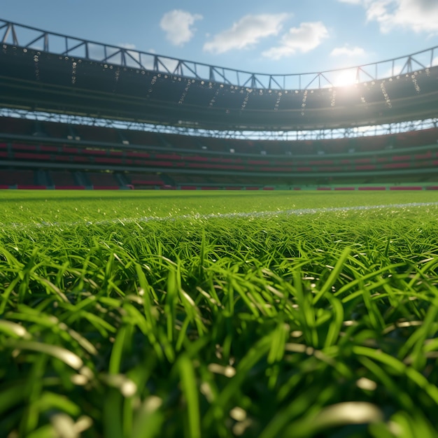
[[[360,211],[360,210],[379,210],[379,209],[408,209],[417,207],[438,206],[438,202],[411,202],[409,204],[382,204],[382,205],[363,205],[363,206],[349,206],[349,207],[323,207],[320,209],[288,209],[288,210],[276,210],[276,211],[252,211],[252,212],[240,212],[240,213],[209,213],[200,214],[195,213],[192,215],[180,215],[180,216],[143,216],[140,218],[116,218],[110,220],[97,220],[92,221],[75,221],[75,222],[33,222],[31,224],[22,224],[18,222],[12,222],[9,224],[1,223],[0,227],[13,227],[13,228],[41,228],[41,227],[76,227],[78,225],[112,225],[120,223],[122,225],[130,223],[144,223],[144,222],[167,222],[175,220],[208,220],[216,218],[269,218],[272,216],[303,216],[316,213],[330,213],[337,211]]]

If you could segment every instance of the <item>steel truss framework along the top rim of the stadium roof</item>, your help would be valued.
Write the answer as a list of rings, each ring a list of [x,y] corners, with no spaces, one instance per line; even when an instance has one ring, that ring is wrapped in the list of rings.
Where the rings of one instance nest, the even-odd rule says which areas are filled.
[[[339,73],[343,73],[343,78],[351,78],[348,82],[362,83],[409,74],[438,65],[438,46],[435,46],[411,55],[353,66],[348,69],[289,74],[251,73],[87,41],[5,20],[0,20],[0,39],[3,44],[41,50],[64,57],[76,57],[182,78],[207,80],[260,90],[311,90],[334,87],[339,85],[337,84]]]

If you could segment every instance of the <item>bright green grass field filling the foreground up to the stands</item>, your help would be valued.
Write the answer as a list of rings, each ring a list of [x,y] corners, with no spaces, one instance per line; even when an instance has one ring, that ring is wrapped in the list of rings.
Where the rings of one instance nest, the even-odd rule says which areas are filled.
[[[438,193],[0,211],[0,437],[438,437]]]

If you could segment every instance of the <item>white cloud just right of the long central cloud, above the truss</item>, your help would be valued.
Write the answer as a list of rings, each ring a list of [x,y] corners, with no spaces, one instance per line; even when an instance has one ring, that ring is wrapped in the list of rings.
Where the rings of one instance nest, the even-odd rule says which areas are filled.
[[[270,59],[280,59],[295,52],[309,52],[327,37],[328,31],[323,22],[304,22],[299,27],[291,27],[281,37],[279,45],[264,51],[262,55]]]

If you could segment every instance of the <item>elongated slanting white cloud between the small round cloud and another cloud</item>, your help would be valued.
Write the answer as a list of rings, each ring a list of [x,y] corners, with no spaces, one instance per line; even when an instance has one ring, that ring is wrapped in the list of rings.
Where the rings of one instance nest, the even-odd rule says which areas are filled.
[[[224,53],[254,45],[262,38],[277,35],[288,14],[245,15],[232,27],[213,36],[204,44],[206,52]]]

